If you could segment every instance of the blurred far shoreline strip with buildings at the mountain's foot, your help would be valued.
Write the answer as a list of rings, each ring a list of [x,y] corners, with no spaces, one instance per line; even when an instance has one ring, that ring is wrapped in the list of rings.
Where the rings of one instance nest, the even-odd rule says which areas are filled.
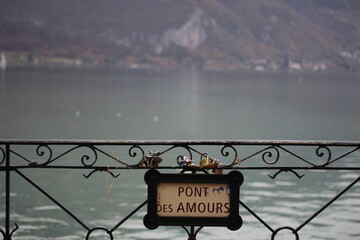
[[[349,72],[356,73],[360,64],[335,60],[293,61],[249,59],[247,61],[222,62],[204,59],[201,63],[178,62],[174,57],[148,57],[138,61],[136,58],[106,59],[92,56],[82,59],[69,56],[47,56],[31,52],[0,51],[6,57],[6,68],[74,68],[74,69],[130,69],[130,70],[199,70],[219,72]],[[4,58],[5,58],[4,57]],[[191,59],[188,59],[191,60]],[[3,65],[3,64],[2,64]]]

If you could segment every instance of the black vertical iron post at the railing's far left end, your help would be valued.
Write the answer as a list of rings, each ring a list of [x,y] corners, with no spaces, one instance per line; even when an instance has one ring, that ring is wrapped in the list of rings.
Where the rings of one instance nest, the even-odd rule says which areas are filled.
[[[5,146],[5,184],[6,184],[6,193],[5,193],[5,240],[10,240],[10,146],[6,144]]]

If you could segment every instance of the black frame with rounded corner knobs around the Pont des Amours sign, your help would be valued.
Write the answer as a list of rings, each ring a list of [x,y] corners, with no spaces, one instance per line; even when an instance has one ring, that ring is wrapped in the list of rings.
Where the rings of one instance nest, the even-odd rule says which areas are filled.
[[[244,176],[239,171],[231,171],[224,175],[161,174],[152,169],[146,172],[144,178],[148,185],[148,206],[143,222],[148,229],[156,229],[159,226],[226,226],[229,230],[235,231],[242,226],[243,221],[239,216],[239,189],[244,182]],[[180,184],[179,186],[181,184],[226,184],[229,196],[228,215],[223,217],[177,216],[176,214],[160,216],[158,214],[158,185],[161,183],[175,183]]]

